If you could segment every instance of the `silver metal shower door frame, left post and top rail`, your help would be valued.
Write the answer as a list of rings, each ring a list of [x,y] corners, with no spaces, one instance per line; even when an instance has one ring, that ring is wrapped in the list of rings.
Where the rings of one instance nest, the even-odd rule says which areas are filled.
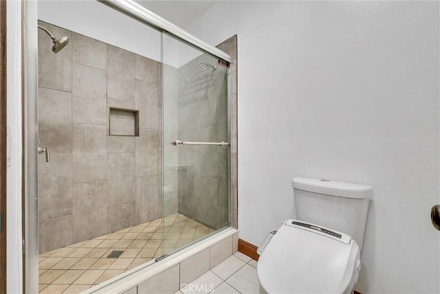
[[[177,25],[146,10],[131,0],[96,0],[115,10],[144,21],[162,32],[173,34],[204,52],[230,62],[228,54],[192,36]],[[23,291],[39,292],[38,225],[38,2],[22,2],[23,60]],[[228,82],[229,87],[229,82]],[[229,91],[228,91],[229,92]],[[228,102],[229,102],[228,93]],[[228,126],[229,126],[228,109]],[[228,130],[229,132],[229,130]],[[228,137],[229,137],[228,133]],[[230,166],[230,164],[229,164]],[[230,197],[229,197],[230,198]]]

